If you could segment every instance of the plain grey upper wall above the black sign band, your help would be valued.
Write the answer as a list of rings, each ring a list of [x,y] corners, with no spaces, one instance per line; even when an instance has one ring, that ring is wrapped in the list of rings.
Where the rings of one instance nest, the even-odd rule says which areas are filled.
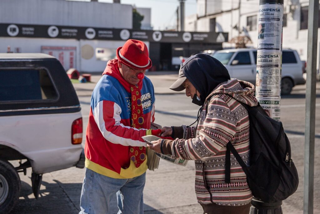
[[[132,29],[132,6],[64,0],[1,0],[0,22]]]

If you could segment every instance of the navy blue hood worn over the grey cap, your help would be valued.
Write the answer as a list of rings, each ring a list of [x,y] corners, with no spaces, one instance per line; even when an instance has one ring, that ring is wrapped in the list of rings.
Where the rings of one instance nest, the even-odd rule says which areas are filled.
[[[189,57],[180,69],[201,94],[202,103],[220,83],[230,80],[227,68],[219,60],[207,54]]]

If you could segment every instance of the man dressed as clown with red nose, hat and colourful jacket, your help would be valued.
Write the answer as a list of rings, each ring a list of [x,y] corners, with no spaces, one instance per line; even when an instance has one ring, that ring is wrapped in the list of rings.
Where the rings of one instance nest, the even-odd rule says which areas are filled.
[[[147,170],[146,143],[142,136],[157,135],[155,95],[144,77],[152,66],[147,46],[129,39],[108,61],[92,92],[85,141],[86,173],[80,213],[109,213],[116,193],[119,212],[143,213],[143,188]]]

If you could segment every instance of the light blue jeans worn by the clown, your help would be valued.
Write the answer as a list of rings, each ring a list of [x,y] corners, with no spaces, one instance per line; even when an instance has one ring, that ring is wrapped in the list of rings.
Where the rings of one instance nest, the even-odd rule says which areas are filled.
[[[81,190],[79,214],[109,213],[110,198],[116,193],[118,214],[143,214],[143,188],[146,173],[130,178],[116,179],[86,169]]]

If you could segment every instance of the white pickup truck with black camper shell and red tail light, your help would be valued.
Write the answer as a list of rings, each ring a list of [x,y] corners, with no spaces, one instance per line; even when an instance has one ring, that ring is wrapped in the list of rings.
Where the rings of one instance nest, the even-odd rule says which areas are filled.
[[[84,167],[80,103],[53,56],[0,54],[0,127],[0,213],[19,199],[18,173],[28,167],[36,198],[42,174]]]

